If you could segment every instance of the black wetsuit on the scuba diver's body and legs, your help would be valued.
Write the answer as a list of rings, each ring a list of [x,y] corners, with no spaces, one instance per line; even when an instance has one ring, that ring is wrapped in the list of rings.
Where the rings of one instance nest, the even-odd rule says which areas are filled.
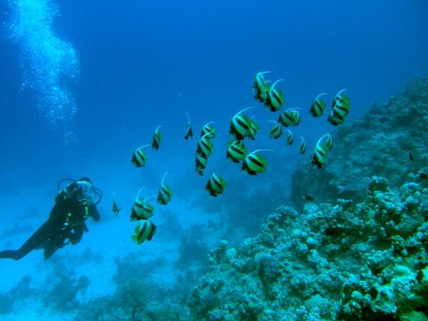
[[[73,184],[70,185],[73,187]],[[96,205],[82,205],[75,197],[68,196],[61,190],[55,198],[54,208],[46,220],[19,250],[4,250],[0,258],[19,260],[32,250],[44,248],[44,257],[50,258],[58,248],[80,242],[83,233],[88,230],[85,220],[91,216],[100,220]],[[66,242],[68,239],[68,242]]]

